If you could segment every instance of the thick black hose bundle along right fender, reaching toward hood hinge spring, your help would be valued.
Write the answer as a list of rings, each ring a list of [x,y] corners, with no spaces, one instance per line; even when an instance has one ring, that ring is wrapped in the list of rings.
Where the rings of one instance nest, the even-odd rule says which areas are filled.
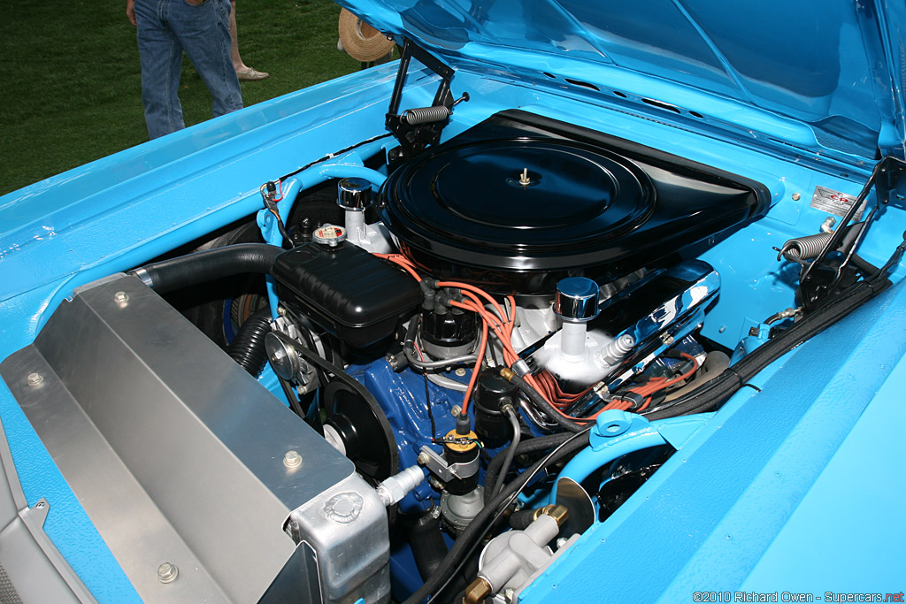
[[[793,350],[805,340],[839,321],[853,312],[875,295],[890,285],[889,281],[860,281],[843,292],[832,304],[827,304],[817,311],[796,322],[790,329],[782,332],[773,340],[767,341],[757,350],[740,360],[736,365],[725,369],[717,378],[708,381],[699,390],[677,398],[669,407],[655,408],[645,414],[650,420],[664,417],[677,417],[689,413],[699,413],[717,407],[720,403],[743,388],[749,379],[757,375],[775,360]]]

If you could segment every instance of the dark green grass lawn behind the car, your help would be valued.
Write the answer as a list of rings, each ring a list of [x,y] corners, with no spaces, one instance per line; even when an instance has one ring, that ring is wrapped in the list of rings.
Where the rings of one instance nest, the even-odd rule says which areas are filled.
[[[329,0],[239,0],[239,50],[271,77],[243,82],[246,107],[359,69],[336,49]],[[125,0],[0,0],[0,195],[148,140],[135,28]],[[183,63],[187,125],[211,98]]]

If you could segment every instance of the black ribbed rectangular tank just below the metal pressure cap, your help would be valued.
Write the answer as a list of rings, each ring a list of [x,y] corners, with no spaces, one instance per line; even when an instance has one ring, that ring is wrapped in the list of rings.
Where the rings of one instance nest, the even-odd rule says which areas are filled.
[[[410,275],[352,244],[300,245],[276,257],[273,274],[281,301],[352,348],[390,337],[421,302]]]

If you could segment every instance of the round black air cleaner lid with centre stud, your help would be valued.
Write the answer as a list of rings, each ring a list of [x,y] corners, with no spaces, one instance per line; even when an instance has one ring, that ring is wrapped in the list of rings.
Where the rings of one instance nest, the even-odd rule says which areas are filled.
[[[570,140],[442,146],[394,172],[381,218],[411,251],[503,271],[608,260],[651,215],[654,189],[630,160]]]

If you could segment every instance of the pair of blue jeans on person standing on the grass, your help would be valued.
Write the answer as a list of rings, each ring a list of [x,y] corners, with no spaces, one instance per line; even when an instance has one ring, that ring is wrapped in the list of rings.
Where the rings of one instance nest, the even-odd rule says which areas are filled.
[[[135,0],[141,101],[151,139],[186,127],[177,96],[183,51],[214,97],[214,117],[242,109],[229,54],[229,10],[229,0]]]

